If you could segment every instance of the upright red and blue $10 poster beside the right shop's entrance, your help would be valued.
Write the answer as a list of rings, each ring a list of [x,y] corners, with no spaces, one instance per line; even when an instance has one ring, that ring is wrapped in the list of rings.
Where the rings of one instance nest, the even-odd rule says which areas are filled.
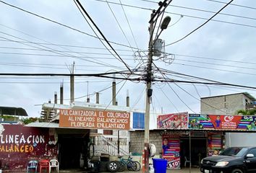
[[[162,157],[168,161],[168,169],[180,169],[179,136],[163,135]]]

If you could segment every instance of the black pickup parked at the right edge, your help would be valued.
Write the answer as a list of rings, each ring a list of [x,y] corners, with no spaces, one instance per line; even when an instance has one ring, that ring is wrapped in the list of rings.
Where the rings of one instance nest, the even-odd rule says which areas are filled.
[[[205,173],[255,173],[256,146],[230,147],[218,156],[208,156],[202,159],[200,171]]]

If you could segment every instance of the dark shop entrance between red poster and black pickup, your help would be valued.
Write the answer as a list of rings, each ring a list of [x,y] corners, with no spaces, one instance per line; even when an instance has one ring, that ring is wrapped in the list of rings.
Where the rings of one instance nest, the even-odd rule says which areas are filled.
[[[185,156],[189,160],[189,138],[180,139],[181,165],[184,167]],[[207,155],[207,138],[191,138],[191,164],[192,167],[199,167],[202,158]],[[189,167],[189,164],[187,164]]]

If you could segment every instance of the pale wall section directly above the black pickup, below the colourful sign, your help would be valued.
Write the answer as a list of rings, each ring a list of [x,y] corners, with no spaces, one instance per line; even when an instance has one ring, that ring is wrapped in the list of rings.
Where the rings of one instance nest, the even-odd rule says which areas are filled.
[[[226,133],[226,147],[256,146],[256,133]]]

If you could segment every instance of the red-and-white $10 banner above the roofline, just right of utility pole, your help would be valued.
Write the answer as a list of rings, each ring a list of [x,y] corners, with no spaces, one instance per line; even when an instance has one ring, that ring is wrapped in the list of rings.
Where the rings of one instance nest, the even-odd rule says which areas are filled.
[[[158,115],[158,128],[187,129],[188,113]]]

